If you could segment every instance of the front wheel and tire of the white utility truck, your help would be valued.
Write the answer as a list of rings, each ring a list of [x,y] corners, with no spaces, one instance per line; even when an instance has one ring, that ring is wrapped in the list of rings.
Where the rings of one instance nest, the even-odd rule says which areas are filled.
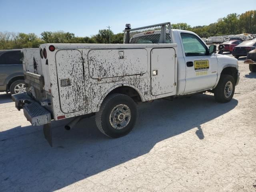
[[[225,90],[227,89],[227,90]],[[214,89],[214,98],[217,102],[229,102],[235,92],[235,80],[231,75],[221,75],[218,85]]]

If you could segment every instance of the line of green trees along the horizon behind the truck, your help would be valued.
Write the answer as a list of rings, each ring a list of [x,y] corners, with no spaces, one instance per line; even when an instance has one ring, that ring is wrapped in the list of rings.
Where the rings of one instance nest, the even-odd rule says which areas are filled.
[[[173,29],[190,30],[200,37],[221,36],[230,34],[250,33],[256,34],[256,10],[246,11],[242,14],[228,14],[219,18],[217,22],[191,27],[187,23],[172,24]],[[0,50],[15,48],[37,48],[44,43],[123,43],[123,33],[114,34],[111,30],[99,30],[93,36],[78,37],[74,33],[57,31],[44,31],[40,37],[34,33],[0,32]]]

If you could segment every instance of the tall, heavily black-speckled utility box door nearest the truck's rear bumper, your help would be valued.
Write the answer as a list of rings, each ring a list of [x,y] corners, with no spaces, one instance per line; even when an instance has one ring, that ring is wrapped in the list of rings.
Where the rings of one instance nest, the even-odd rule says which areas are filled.
[[[72,113],[83,110],[86,106],[86,95],[81,52],[59,50],[55,57],[62,112]]]

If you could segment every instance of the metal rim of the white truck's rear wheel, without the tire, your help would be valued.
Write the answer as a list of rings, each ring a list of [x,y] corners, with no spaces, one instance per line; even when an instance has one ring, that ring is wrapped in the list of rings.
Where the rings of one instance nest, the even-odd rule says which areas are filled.
[[[116,130],[123,129],[129,124],[131,115],[131,110],[127,105],[119,104],[110,112],[110,125]]]

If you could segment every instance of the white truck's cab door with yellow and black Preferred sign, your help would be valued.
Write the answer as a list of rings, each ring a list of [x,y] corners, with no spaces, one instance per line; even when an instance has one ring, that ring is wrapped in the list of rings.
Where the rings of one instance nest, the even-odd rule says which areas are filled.
[[[218,71],[215,54],[207,54],[207,47],[198,36],[190,33],[180,33],[180,36],[186,64],[184,93],[213,88]]]

